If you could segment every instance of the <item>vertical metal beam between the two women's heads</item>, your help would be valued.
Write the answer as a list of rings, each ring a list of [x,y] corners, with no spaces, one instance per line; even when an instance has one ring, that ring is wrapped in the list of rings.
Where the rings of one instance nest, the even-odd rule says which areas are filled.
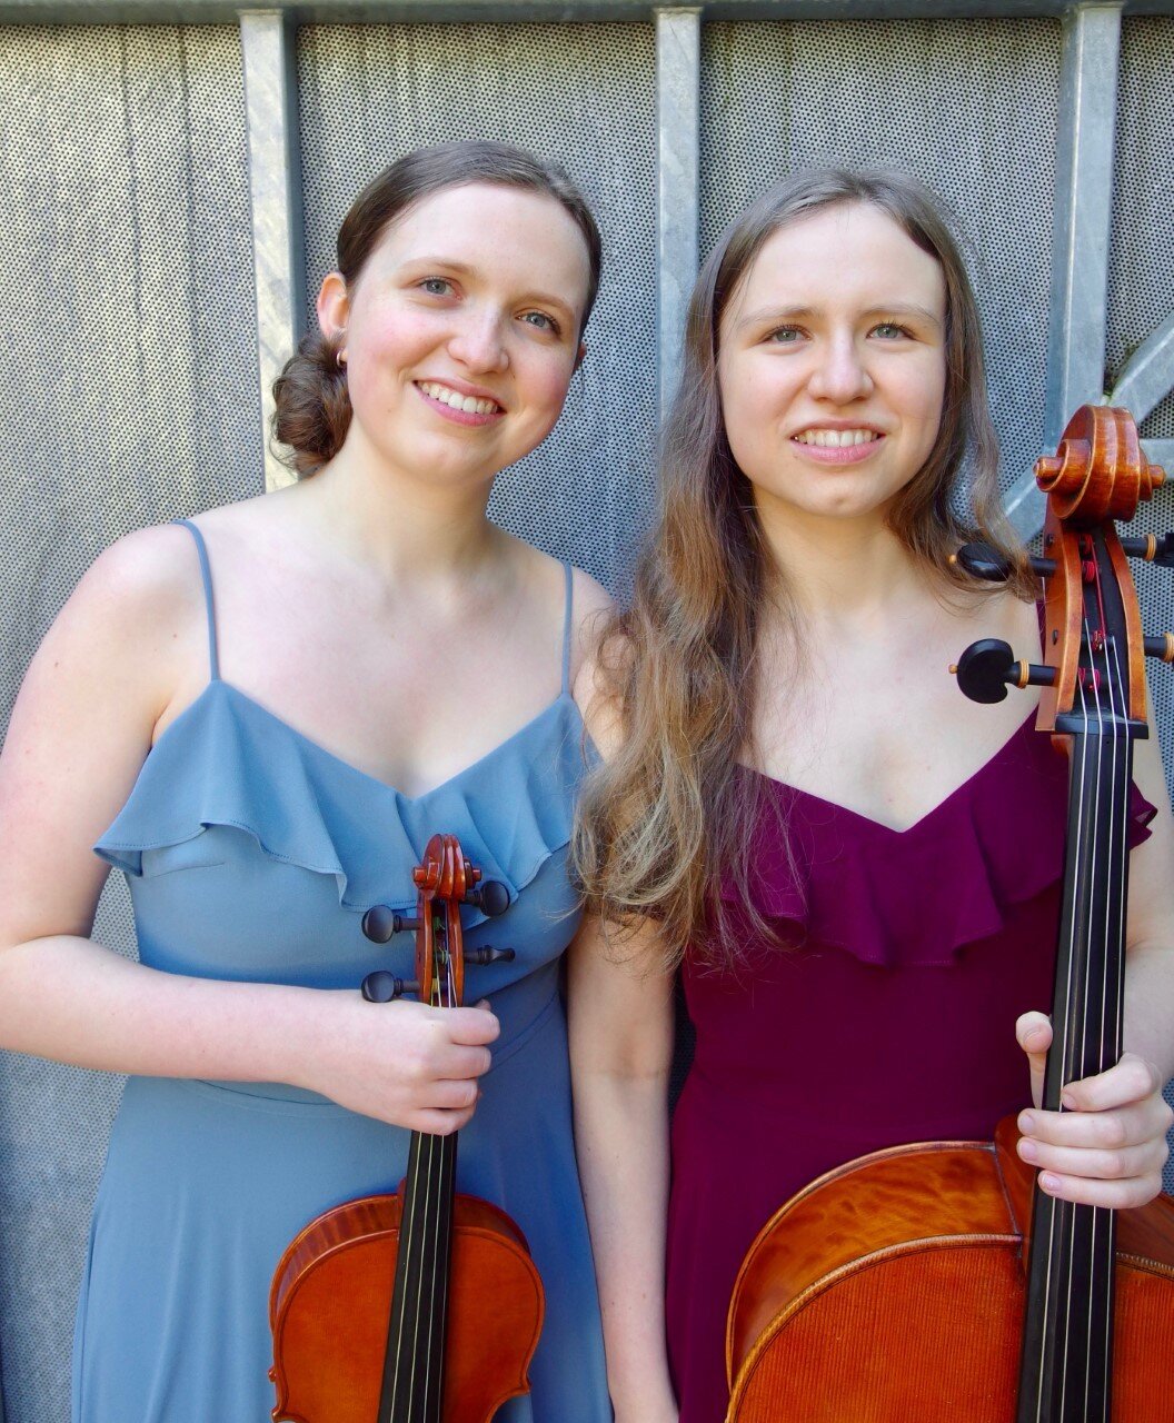
[[[702,11],[656,11],[657,319],[662,416],[680,379],[680,344],[697,275]]]

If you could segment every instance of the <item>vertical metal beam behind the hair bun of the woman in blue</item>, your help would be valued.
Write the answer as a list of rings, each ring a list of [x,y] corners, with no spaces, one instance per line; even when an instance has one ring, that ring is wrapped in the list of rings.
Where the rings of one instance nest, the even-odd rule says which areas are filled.
[[[249,125],[265,488],[276,490],[292,484],[293,474],[269,453],[272,388],[303,327],[297,90],[293,30],[285,14],[242,10],[240,53]]]

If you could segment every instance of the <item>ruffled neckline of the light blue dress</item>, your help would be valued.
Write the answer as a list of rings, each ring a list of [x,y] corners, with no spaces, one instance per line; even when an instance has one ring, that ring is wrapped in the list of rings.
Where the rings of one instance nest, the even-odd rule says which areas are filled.
[[[447,831],[512,901],[568,844],[586,754],[578,706],[564,692],[440,785],[407,795],[213,679],[151,748],[94,848],[141,875],[144,852],[231,827],[272,859],[333,875],[339,902],[363,911],[413,905],[404,865]],[[467,924],[481,919],[471,909]]]

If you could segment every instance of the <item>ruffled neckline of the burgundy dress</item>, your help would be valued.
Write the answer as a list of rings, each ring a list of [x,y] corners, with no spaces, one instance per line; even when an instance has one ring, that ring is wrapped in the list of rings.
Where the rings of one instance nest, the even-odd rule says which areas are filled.
[[[887,968],[949,965],[1063,875],[1067,758],[1035,730],[1035,713],[904,830],[750,767],[740,774],[760,791],[749,895],[797,948]],[[1131,785],[1130,847],[1156,814]],[[729,875],[721,898],[740,902]]]

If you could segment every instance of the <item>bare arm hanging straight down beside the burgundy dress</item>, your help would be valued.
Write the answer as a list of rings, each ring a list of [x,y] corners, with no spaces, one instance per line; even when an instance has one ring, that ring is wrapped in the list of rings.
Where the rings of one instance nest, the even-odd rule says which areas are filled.
[[[575,1143],[616,1423],[677,1417],[665,1346],[672,978],[649,958],[640,941],[609,951],[595,921],[569,958]]]

